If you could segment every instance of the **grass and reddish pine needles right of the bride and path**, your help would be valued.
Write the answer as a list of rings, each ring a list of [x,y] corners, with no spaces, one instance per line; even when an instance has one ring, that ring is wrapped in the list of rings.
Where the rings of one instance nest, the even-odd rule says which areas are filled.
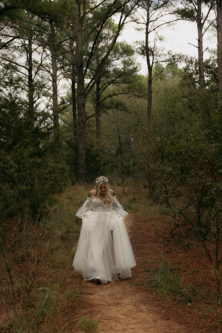
[[[222,332],[222,308],[217,298],[214,268],[192,229],[185,228],[189,237],[187,247],[180,230],[172,232],[175,226],[166,215],[167,207],[151,199],[148,189],[128,187],[123,194],[119,187],[117,194],[125,210],[137,213],[133,227],[137,260],[134,284],[148,290],[148,299],[158,301],[158,306],[160,296],[169,302],[169,306],[166,301],[163,303],[168,320],[189,321],[190,332]],[[184,207],[186,196],[186,189],[180,189],[171,200]],[[187,302],[192,306],[188,307]]]

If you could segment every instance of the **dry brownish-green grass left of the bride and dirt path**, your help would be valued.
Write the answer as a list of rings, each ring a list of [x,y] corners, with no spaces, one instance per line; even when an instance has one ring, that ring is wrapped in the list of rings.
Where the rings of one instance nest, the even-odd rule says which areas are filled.
[[[48,207],[41,223],[19,221],[1,226],[0,332],[71,332],[70,316],[78,309],[81,280],[71,264],[80,233],[76,210],[87,198],[86,187],[68,187]],[[13,291],[15,298],[13,297]],[[95,332],[92,318],[76,319],[76,329]]]

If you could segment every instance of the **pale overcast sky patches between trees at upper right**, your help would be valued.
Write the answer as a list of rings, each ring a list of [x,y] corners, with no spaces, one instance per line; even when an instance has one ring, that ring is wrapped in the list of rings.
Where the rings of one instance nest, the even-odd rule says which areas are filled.
[[[166,51],[171,50],[173,53],[182,53],[188,56],[198,57],[198,49],[190,44],[197,46],[197,28],[196,23],[179,21],[176,22],[171,28],[164,26],[160,31],[160,35],[164,37],[163,42],[159,42]],[[129,44],[139,40],[145,39],[145,33],[136,31],[133,24],[128,24],[124,31],[121,33],[119,40],[126,40]],[[190,44],[189,44],[190,43]],[[205,33],[203,40],[203,47],[206,49],[216,49],[216,33],[209,31]],[[205,51],[205,58],[209,58],[209,53]],[[141,63],[141,74],[147,74],[147,66],[145,58],[138,57],[137,60]]]

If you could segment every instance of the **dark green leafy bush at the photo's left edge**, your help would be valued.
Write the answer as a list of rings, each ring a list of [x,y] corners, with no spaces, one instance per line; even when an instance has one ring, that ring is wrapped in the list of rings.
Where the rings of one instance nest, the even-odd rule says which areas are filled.
[[[46,199],[67,184],[65,157],[50,140],[42,121],[28,127],[25,105],[9,96],[1,100],[0,209],[4,216],[38,216]]]

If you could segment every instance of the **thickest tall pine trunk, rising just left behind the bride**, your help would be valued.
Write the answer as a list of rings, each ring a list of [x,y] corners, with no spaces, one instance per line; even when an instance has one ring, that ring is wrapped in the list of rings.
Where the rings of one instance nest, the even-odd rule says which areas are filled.
[[[86,119],[85,119],[85,87],[83,72],[83,28],[80,22],[80,11],[76,10],[76,78],[77,78],[77,108],[78,108],[78,165],[77,180],[85,182],[85,153],[86,153]]]

